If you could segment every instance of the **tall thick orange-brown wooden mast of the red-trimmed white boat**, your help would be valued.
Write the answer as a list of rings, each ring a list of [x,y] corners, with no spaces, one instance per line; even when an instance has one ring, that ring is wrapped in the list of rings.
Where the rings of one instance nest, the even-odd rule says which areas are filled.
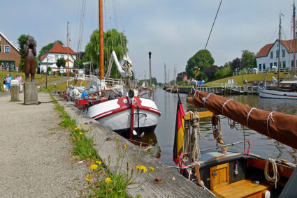
[[[103,51],[103,3],[99,0],[99,63],[100,78],[104,77],[104,51]]]

